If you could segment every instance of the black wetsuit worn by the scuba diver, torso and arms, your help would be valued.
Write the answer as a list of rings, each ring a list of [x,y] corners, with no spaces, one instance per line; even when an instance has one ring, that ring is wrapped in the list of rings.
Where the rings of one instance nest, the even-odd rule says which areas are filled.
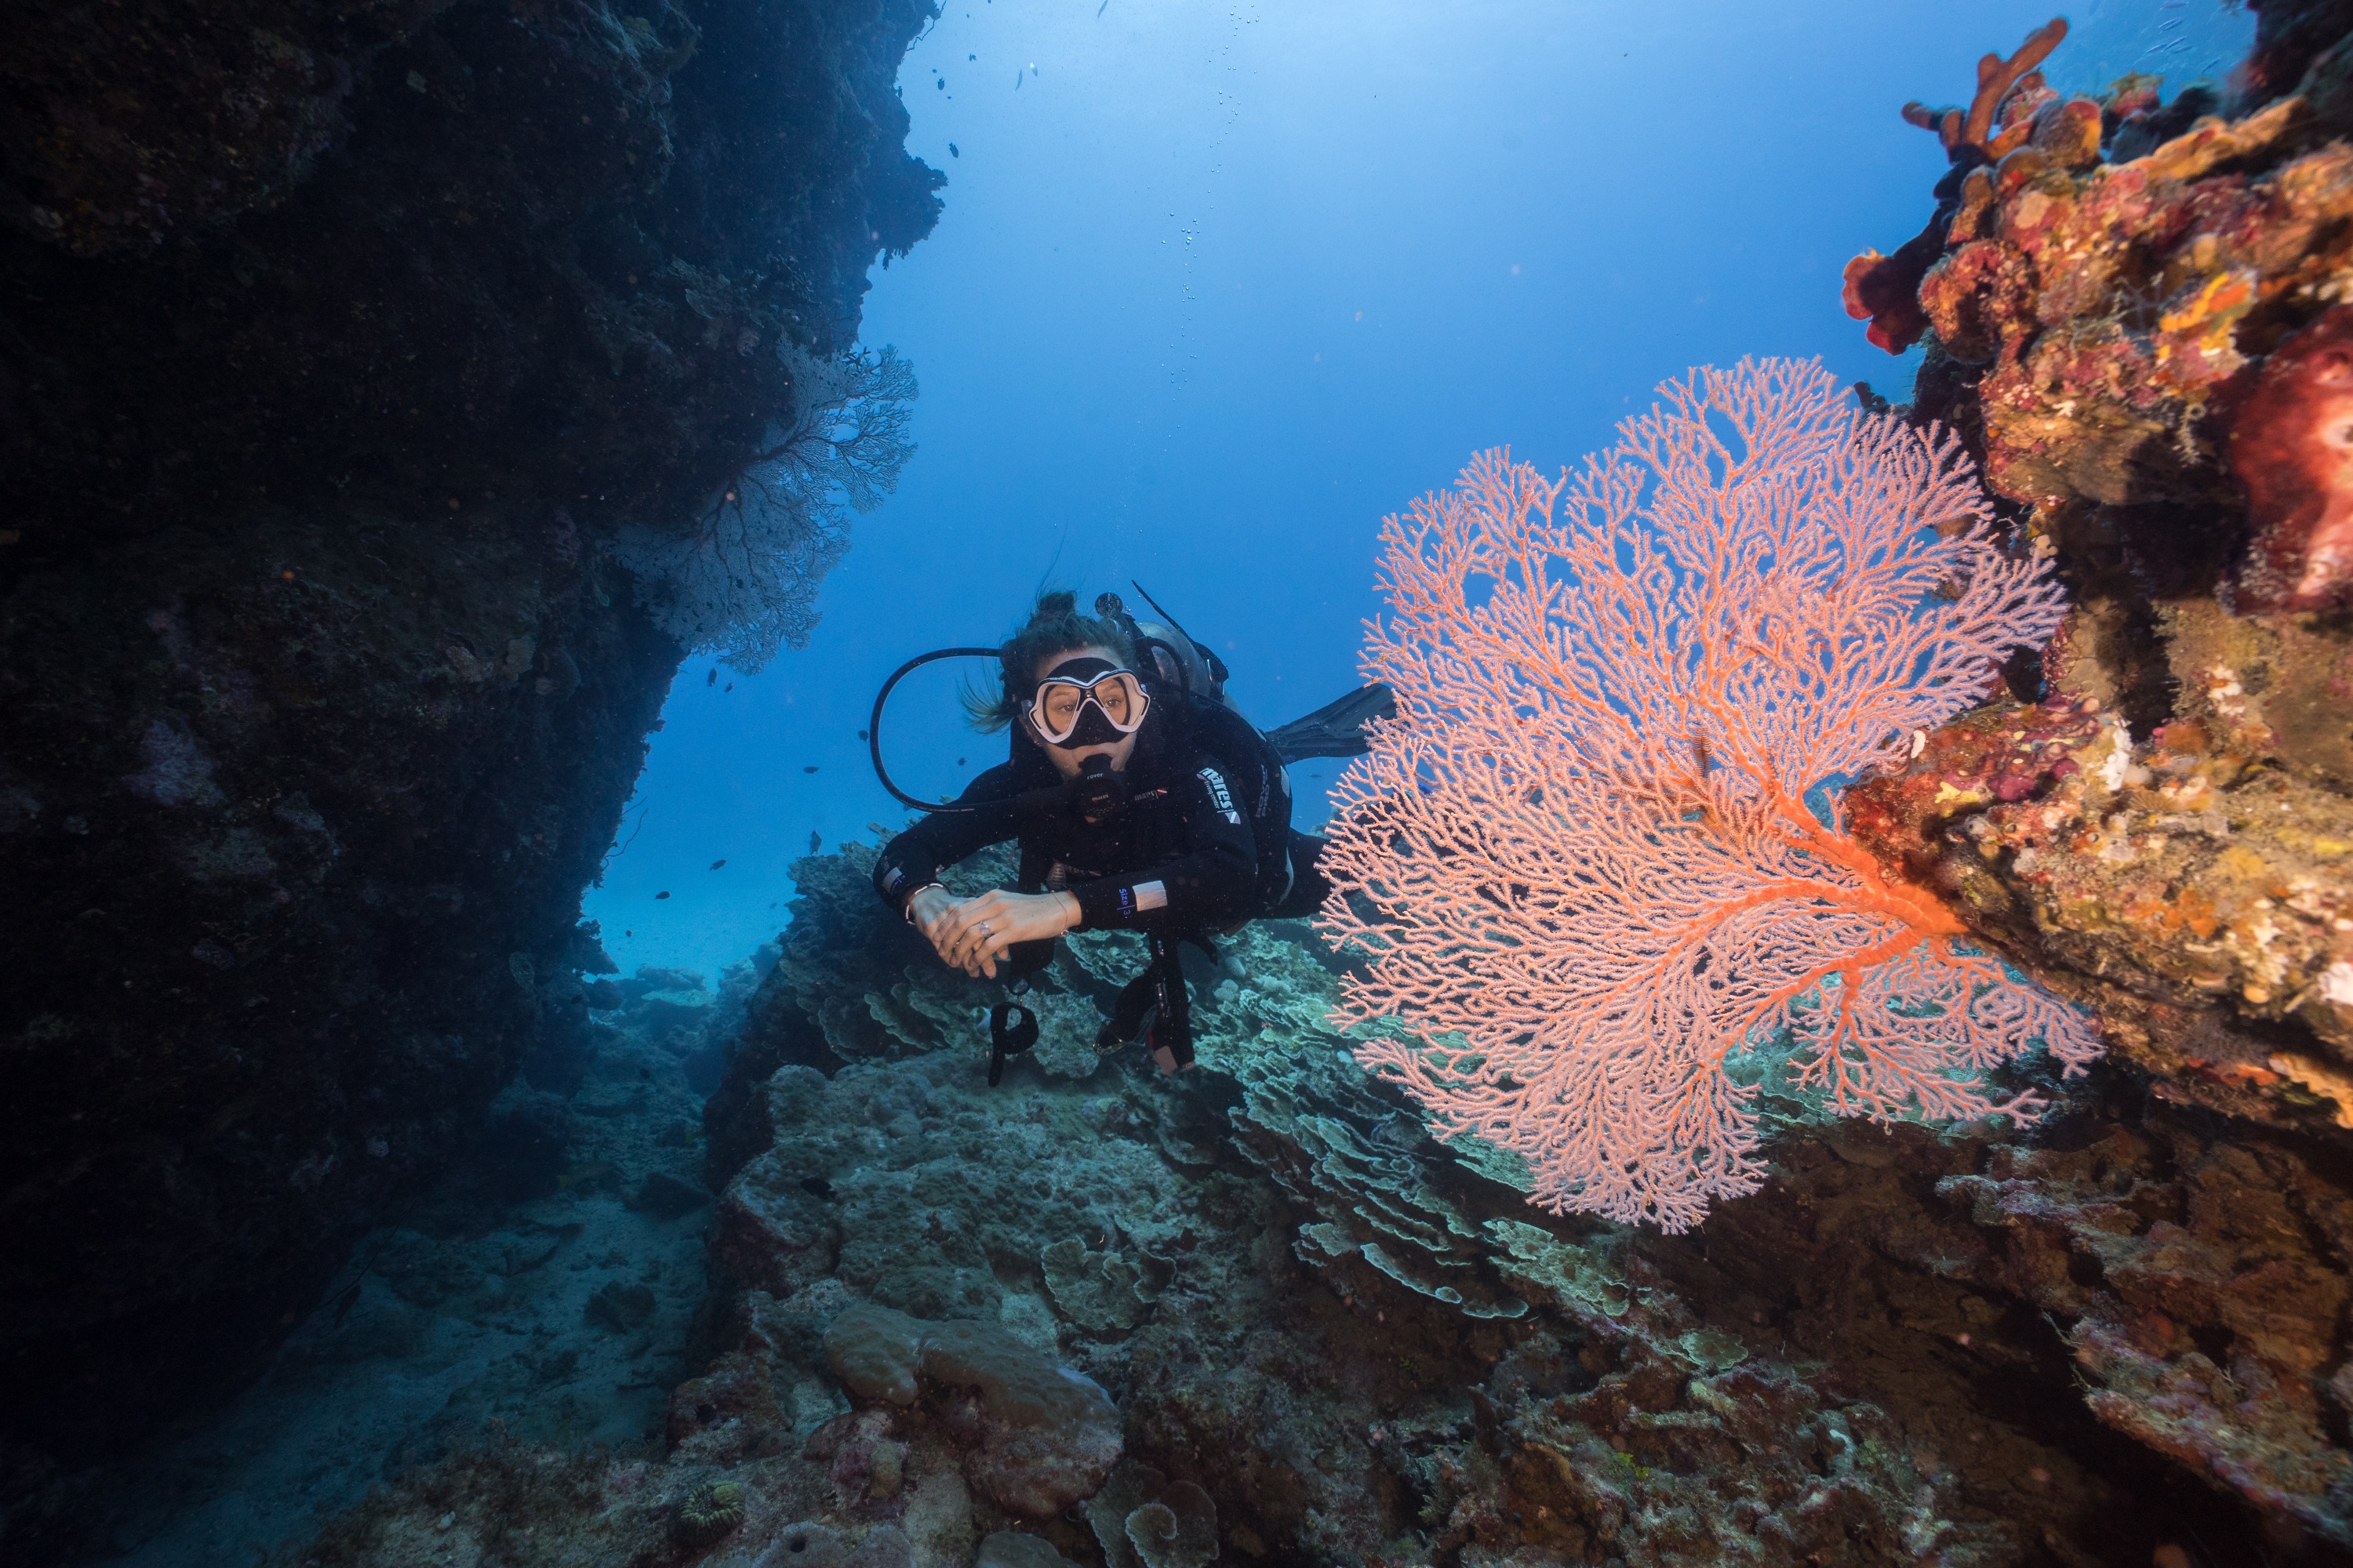
[[[936,882],[944,867],[1019,839],[1016,889],[1068,891],[1089,931],[1174,938],[1287,914],[1297,903],[1306,912],[1313,903],[1304,893],[1322,886],[1313,872],[1322,839],[1289,832],[1289,783],[1280,762],[1240,715],[1217,703],[1193,705],[1191,745],[1179,745],[1169,722],[1179,701],[1158,696],[1136,731],[1127,762],[1129,806],[1118,818],[1087,823],[1068,806],[1021,818],[1009,804],[936,811],[882,849],[875,891],[892,910],[904,910],[906,898]],[[1045,750],[1016,729],[1012,759],[974,778],[958,804],[1009,802],[1059,778]],[[1014,973],[1031,973],[1052,950],[1052,943],[1014,943],[1007,961]]]

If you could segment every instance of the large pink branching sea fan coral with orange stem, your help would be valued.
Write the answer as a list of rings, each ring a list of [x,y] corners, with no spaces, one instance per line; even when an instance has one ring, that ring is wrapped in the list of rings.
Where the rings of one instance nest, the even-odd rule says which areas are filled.
[[[2026,1121],[1986,1070],[2099,1044],[1831,799],[2049,637],[2047,564],[1951,433],[1854,414],[1819,362],[1659,395],[1581,473],[1485,451],[1386,520],[1365,670],[1398,717],[1341,783],[1322,929],[1369,959],[1344,1016],[1402,1023],[1358,1058],[1440,1135],[1680,1232],[1762,1180],[1727,1058],[1788,1048],[1845,1117]]]

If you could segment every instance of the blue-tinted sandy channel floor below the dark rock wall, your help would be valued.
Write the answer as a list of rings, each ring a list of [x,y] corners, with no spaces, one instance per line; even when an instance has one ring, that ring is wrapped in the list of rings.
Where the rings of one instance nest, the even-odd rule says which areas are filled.
[[[748,992],[748,969],[727,990]],[[692,1182],[701,1093],[678,1048],[689,1025],[656,1009],[598,1011],[569,1100],[511,1084],[482,1147],[384,1206],[254,1382],[106,1467],[73,1509],[92,1523],[87,1556],[280,1561],[386,1476],[487,1427],[659,1448],[671,1389],[701,1366],[708,1194]],[[741,1009],[685,1011],[722,1027]],[[14,1544],[16,1523],[0,1542]],[[7,1544],[0,1561],[14,1561]]]

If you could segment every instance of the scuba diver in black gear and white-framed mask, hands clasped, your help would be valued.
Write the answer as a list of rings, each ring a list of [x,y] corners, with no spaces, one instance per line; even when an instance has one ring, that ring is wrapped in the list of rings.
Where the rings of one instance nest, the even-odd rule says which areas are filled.
[[[927,816],[882,849],[873,882],[944,961],[1002,976],[1014,997],[1052,964],[1064,931],[1141,931],[1151,961],[1094,1046],[1146,1034],[1160,1070],[1179,1072],[1193,1065],[1179,945],[1214,959],[1214,933],[1311,914],[1329,891],[1315,870],[1322,839],[1292,827],[1282,764],[1360,755],[1365,719],[1395,703],[1372,684],[1259,733],[1226,701],[1226,665],[1165,611],[1136,621],[1111,592],[1094,611],[1078,614],[1073,592],[1040,595],[1002,646],[922,654],[882,684],[868,729],[875,776]],[[1012,757],[948,804],[906,795],[882,769],[882,705],[936,658],[995,658],[998,696],[967,708],[984,731],[1012,729]],[[1019,842],[1016,886],[976,898],[941,886],[944,867],[1007,839]],[[1026,1006],[993,1009],[988,1081],[1035,1039]]]

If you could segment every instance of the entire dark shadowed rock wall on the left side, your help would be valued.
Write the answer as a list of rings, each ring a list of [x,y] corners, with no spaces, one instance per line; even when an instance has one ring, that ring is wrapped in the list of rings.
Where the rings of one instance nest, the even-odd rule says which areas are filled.
[[[586,1030],[680,527],[920,240],[922,0],[0,42],[0,1493],[233,1382]],[[786,353],[791,350],[791,353]]]

